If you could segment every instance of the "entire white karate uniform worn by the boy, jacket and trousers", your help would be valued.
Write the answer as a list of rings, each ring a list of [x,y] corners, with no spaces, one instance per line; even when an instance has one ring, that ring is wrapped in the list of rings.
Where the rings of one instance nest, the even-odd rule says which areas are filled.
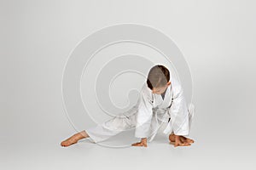
[[[190,104],[188,110],[183,88],[177,80],[172,79],[171,85],[166,89],[164,99],[161,94],[152,94],[147,82],[144,82],[137,105],[120,116],[115,116],[85,131],[90,139],[97,143],[122,131],[136,128],[135,137],[148,138],[148,142],[151,142],[162,123],[168,121],[163,133],[189,135],[194,113],[194,105]]]

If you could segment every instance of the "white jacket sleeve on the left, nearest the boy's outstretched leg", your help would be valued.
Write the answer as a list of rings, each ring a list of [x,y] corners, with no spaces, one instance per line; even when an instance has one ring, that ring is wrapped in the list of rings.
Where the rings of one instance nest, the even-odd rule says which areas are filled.
[[[138,100],[135,137],[147,138],[153,114],[153,99],[148,89],[143,89]]]

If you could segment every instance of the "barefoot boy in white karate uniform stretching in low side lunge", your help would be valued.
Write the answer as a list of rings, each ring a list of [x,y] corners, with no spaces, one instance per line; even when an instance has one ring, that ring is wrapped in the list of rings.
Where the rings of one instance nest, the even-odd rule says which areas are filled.
[[[62,141],[61,146],[76,144],[84,138],[97,143],[136,127],[135,137],[141,141],[131,145],[147,147],[148,139],[152,141],[160,128],[159,121],[167,123],[164,133],[170,133],[170,144],[189,146],[194,140],[185,136],[189,135],[193,115],[194,106],[191,104],[188,110],[180,84],[175,79],[170,82],[170,72],[164,65],[154,65],[148,72],[137,105],[121,116],[74,134]]]

